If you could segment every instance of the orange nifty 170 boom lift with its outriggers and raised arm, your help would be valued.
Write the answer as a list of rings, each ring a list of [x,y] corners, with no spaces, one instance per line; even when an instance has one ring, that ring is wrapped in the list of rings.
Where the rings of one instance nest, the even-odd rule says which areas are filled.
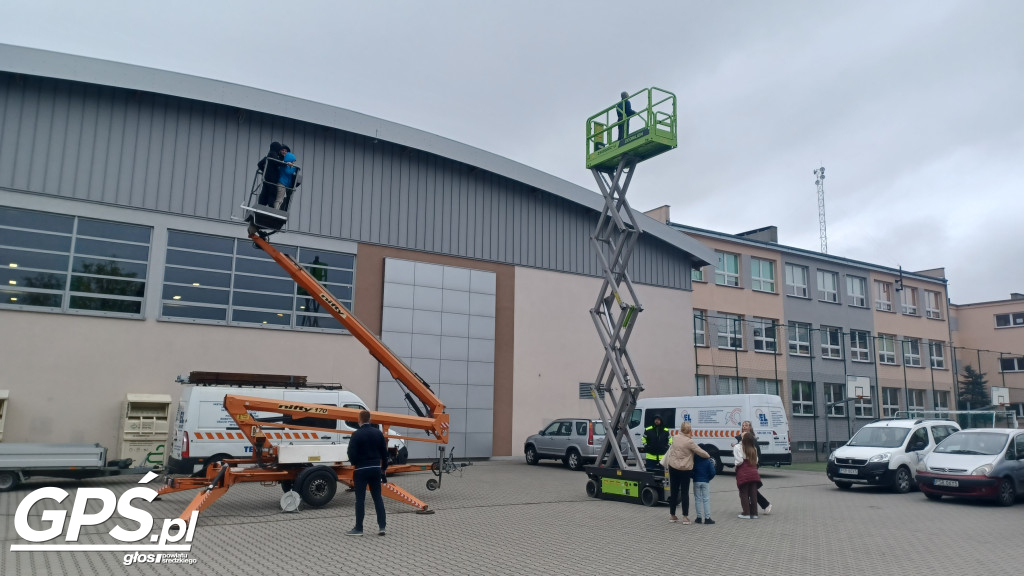
[[[371,422],[381,425],[385,436],[389,438],[432,442],[442,445],[447,444],[449,415],[444,413],[444,405],[434,396],[430,386],[381,342],[376,335],[367,329],[362,323],[352,316],[311,274],[306,272],[291,256],[278,251],[271,246],[266,241],[265,235],[261,235],[259,231],[254,231],[252,228],[250,228],[250,239],[252,239],[256,246],[273,258],[281,268],[285,269],[289,276],[306,292],[317,298],[324,307],[330,311],[331,315],[355,336],[367,347],[370,354],[391,373],[391,376],[408,389],[406,399],[409,401],[410,406],[412,406],[413,411],[417,413],[416,416],[371,412]],[[415,396],[415,400],[410,394]],[[306,504],[313,507],[323,506],[330,502],[338,489],[338,483],[350,488],[354,485],[354,468],[351,465],[341,463],[342,457],[335,455],[334,458],[323,458],[319,455],[310,454],[306,456],[305,461],[297,461],[295,458],[283,460],[281,458],[282,450],[290,450],[291,447],[278,446],[268,442],[263,428],[288,427],[299,430],[334,433],[338,430],[301,425],[302,418],[314,417],[317,419],[353,421],[358,419],[359,410],[236,395],[226,395],[224,397],[224,409],[234,420],[236,424],[238,424],[242,434],[252,444],[253,456],[245,459],[225,459],[222,462],[211,464],[207,468],[205,478],[169,479],[167,485],[160,490],[161,495],[183,490],[201,489],[201,492],[196,495],[188,504],[188,507],[181,513],[180,518],[182,520],[187,521],[193,511],[202,511],[227,492],[228,488],[240,482],[281,484],[286,492],[295,490]],[[260,421],[255,417],[254,412],[283,414],[290,416],[292,421],[287,424],[283,422]],[[420,429],[424,430],[426,435],[422,437],[390,435],[391,426]],[[340,450],[341,447],[339,446],[337,449]],[[317,463],[317,461],[331,461],[333,463],[325,464]],[[430,462],[423,464],[392,464],[388,466],[388,476],[430,469]],[[420,513],[433,512],[433,510],[428,509],[426,503],[392,482],[388,482],[382,486],[382,493],[388,498],[418,508]]]

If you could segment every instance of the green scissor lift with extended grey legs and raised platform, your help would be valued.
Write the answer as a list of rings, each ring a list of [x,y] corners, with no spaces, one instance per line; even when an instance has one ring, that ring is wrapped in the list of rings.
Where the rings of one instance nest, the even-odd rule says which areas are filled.
[[[665,476],[646,469],[629,434],[630,416],[643,384],[626,345],[643,306],[629,276],[630,256],[641,230],[626,201],[626,191],[639,162],[676,148],[676,95],[645,88],[629,99],[637,104],[634,116],[617,119],[615,109],[624,102],[620,100],[587,119],[587,168],[604,197],[604,209],[591,237],[604,281],[590,311],[604,360],[591,394],[606,430],[597,462],[586,467],[587,494],[652,506],[665,499]]]

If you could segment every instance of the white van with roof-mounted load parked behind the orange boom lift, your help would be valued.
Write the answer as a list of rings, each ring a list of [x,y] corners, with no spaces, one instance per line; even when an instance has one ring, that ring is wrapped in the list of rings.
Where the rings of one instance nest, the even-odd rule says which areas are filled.
[[[202,474],[211,462],[223,458],[252,457],[253,447],[239,430],[234,420],[224,410],[224,396],[253,396],[272,400],[324,404],[344,408],[366,409],[367,405],[354,394],[337,388],[263,388],[220,385],[185,385],[175,417],[171,451],[167,460],[171,474]],[[257,412],[256,417],[266,421],[288,423],[289,416],[272,412]],[[336,433],[319,433],[291,428],[266,427],[264,431],[278,445],[347,445],[348,435],[357,427],[355,422],[334,419],[303,418],[301,425],[334,428]],[[403,440],[390,439],[388,451],[396,463],[409,459]]]

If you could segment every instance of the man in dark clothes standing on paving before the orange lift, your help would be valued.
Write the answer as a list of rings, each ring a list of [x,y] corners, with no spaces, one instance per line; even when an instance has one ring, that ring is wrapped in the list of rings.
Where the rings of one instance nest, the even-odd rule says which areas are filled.
[[[367,489],[374,499],[377,511],[377,534],[384,535],[387,517],[384,498],[381,497],[381,483],[387,483],[387,440],[377,426],[370,423],[370,412],[359,412],[359,429],[352,433],[348,441],[348,461],[355,466],[355,528],[346,532],[349,536],[362,536],[362,517],[366,513]]]

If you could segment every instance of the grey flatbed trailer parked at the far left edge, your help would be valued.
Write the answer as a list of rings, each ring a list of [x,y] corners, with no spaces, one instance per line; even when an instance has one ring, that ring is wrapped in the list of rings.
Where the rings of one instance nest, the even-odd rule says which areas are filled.
[[[0,443],[0,492],[35,477],[81,480],[130,469],[130,458],[109,462],[99,444]]]

